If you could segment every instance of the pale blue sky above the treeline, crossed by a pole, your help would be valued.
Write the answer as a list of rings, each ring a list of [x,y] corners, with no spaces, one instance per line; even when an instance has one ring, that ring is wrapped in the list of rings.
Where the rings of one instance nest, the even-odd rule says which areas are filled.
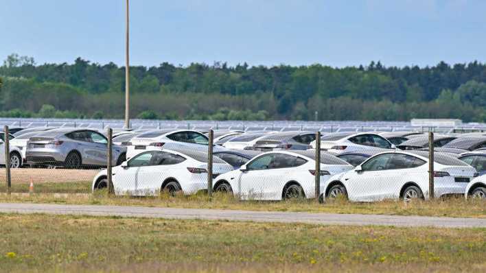
[[[0,0],[0,60],[124,63],[125,0]],[[130,63],[486,62],[483,0],[130,0]]]

